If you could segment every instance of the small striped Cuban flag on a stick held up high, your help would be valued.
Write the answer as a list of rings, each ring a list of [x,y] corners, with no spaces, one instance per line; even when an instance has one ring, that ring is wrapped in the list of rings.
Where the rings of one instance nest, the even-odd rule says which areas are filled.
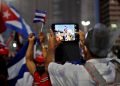
[[[46,21],[46,12],[41,11],[41,10],[36,10],[33,22],[34,23],[38,23],[38,22],[45,23],[45,21]]]

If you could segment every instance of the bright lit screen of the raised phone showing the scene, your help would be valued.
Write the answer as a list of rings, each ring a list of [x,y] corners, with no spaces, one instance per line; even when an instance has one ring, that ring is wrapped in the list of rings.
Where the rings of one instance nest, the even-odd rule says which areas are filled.
[[[74,41],[76,25],[75,24],[56,24],[54,29],[56,40]]]

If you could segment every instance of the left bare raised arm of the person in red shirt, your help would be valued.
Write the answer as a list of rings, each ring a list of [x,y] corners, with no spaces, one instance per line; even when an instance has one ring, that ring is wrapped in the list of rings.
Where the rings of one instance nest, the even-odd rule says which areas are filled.
[[[36,70],[36,66],[33,60],[33,53],[34,53],[34,41],[35,36],[33,34],[30,34],[28,37],[29,45],[28,49],[26,51],[26,65],[32,75],[34,75],[34,72]]]

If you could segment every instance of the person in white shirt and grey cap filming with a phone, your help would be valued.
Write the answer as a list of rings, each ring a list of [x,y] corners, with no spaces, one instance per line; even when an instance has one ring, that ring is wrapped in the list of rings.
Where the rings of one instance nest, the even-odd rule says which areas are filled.
[[[80,34],[81,32],[79,32]],[[84,65],[72,64],[70,62],[58,64],[54,62],[56,39],[53,31],[50,30],[45,69],[49,73],[52,86],[113,85],[116,75],[115,66],[106,59],[111,46],[109,29],[103,24],[96,24],[84,39],[83,47],[86,53],[84,57],[86,63]],[[90,71],[92,69],[96,70],[94,73],[97,75],[93,72],[91,74],[88,68]],[[101,79],[97,78],[98,76]]]

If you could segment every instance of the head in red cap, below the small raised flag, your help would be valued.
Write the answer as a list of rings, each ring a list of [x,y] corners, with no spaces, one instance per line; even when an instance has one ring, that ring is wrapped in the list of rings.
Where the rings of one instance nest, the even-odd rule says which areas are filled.
[[[34,62],[36,64],[36,70],[39,72],[40,75],[42,75],[45,72],[45,58],[43,55],[38,55]]]

